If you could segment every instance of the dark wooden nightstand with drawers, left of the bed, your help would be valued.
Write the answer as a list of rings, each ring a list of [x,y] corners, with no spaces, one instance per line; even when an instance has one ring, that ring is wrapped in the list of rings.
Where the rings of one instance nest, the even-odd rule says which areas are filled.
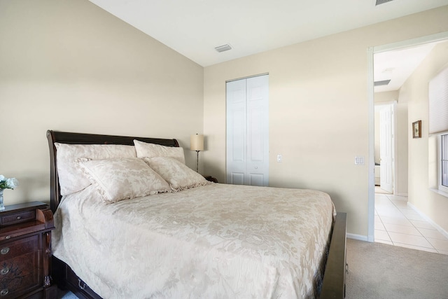
[[[0,212],[0,298],[57,298],[51,285],[53,214],[43,202]]]

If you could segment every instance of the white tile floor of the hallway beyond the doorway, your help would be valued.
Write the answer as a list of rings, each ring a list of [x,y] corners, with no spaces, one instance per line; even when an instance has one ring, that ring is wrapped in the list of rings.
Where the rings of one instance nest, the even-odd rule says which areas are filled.
[[[375,193],[375,242],[448,255],[448,238],[414,209],[407,197]]]

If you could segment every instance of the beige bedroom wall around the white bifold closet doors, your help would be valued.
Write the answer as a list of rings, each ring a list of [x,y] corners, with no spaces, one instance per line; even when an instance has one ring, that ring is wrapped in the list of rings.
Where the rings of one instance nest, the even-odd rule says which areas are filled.
[[[347,232],[367,237],[367,48],[448,31],[447,18],[444,6],[206,67],[205,172],[225,179],[225,81],[269,73],[270,186],[328,192]]]

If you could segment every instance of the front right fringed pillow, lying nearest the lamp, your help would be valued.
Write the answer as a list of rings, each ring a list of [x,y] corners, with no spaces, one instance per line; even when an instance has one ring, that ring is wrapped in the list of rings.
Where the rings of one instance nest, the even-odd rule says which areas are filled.
[[[204,179],[204,176],[179,162],[179,160],[169,157],[144,158],[143,160],[155,172],[160,174],[174,191],[204,186],[210,183]]]

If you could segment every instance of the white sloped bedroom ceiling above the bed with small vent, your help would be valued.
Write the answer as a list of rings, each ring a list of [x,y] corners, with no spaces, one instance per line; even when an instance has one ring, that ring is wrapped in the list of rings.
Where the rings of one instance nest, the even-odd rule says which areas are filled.
[[[90,0],[202,67],[448,5],[448,0]],[[229,43],[232,50],[214,49]]]

